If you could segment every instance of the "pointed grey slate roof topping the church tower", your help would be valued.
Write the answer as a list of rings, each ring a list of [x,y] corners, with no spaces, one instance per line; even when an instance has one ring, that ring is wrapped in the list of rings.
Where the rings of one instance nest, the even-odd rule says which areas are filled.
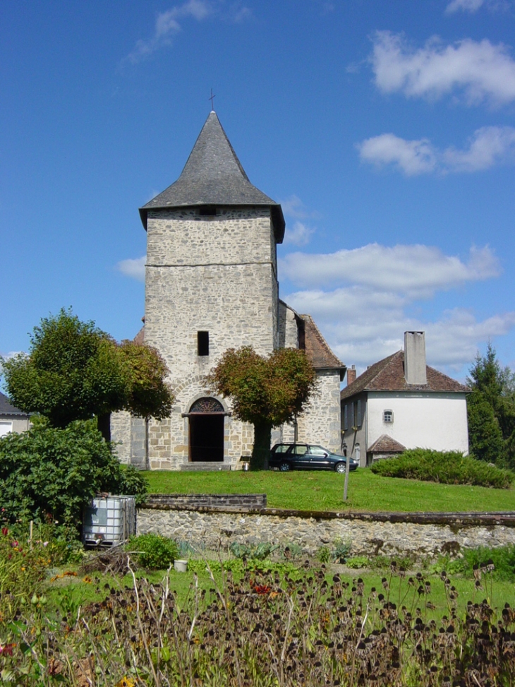
[[[140,208],[147,228],[149,210],[191,205],[262,205],[270,208],[278,243],[284,237],[281,205],[250,183],[216,112],[211,112],[193,146],[181,176]]]

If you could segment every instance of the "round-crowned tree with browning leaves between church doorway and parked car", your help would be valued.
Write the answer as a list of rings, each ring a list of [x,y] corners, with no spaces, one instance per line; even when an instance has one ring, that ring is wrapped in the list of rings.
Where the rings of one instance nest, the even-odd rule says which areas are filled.
[[[243,346],[224,353],[207,383],[212,393],[231,398],[234,417],[254,425],[250,468],[262,470],[272,427],[292,422],[305,410],[316,374],[301,350],[281,348],[262,357]]]

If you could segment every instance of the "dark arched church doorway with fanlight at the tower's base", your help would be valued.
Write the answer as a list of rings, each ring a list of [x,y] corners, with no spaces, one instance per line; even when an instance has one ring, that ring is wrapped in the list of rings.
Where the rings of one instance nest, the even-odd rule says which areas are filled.
[[[193,403],[188,412],[190,462],[224,460],[224,417],[224,407],[216,398],[206,396]]]

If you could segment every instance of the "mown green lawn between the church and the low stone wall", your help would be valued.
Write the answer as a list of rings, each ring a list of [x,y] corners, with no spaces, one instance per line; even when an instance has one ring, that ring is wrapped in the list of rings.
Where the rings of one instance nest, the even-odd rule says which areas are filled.
[[[349,498],[336,472],[143,472],[152,494],[267,494],[269,508],[298,510],[515,510],[514,489],[487,489],[351,472]]]

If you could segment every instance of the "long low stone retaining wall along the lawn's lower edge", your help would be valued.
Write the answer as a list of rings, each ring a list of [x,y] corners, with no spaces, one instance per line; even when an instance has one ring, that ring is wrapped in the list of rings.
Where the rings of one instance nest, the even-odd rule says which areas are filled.
[[[463,547],[515,544],[515,513],[323,513],[262,508],[178,508],[138,510],[138,534],[157,532],[188,542],[199,551],[238,544],[301,546],[313,555],[337,541],[351,555],[437,556]]]

